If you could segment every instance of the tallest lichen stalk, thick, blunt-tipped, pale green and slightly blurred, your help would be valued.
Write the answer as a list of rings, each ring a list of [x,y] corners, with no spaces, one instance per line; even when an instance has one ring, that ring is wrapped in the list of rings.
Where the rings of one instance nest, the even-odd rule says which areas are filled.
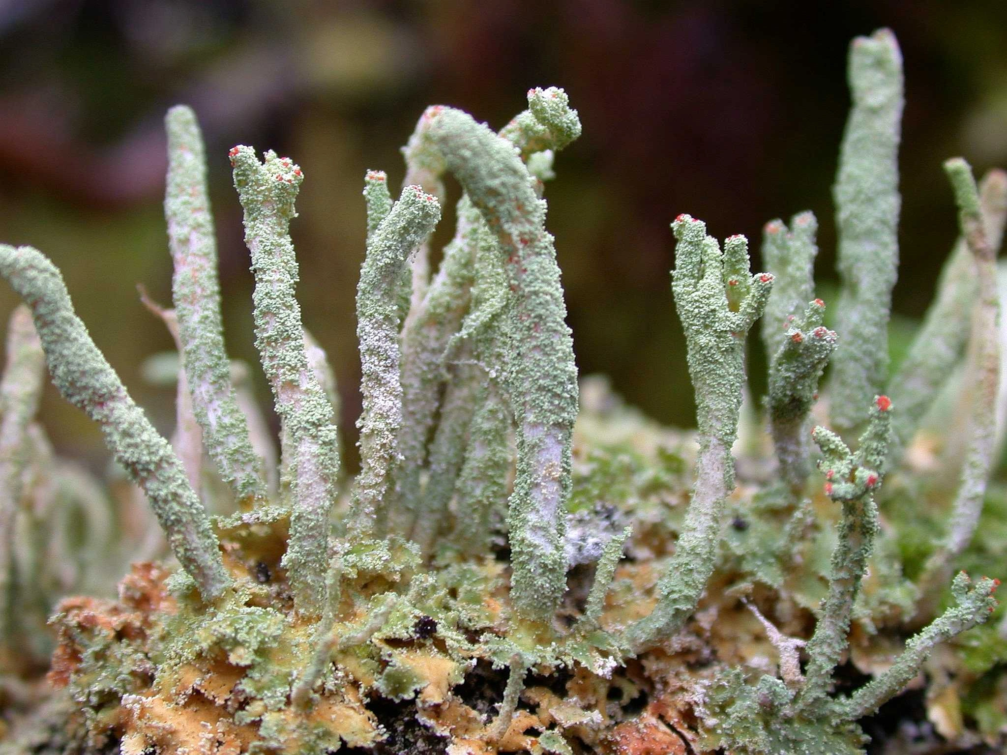
[[[888,369],[888,317],[898,266],[898,143],[902,55],[888,29],[850,47],[853,109],[833,187],[843,282],[836,332],[843,339],[829,384],[832,421],[841,430],[863,421],[863,397],[878,393]]]

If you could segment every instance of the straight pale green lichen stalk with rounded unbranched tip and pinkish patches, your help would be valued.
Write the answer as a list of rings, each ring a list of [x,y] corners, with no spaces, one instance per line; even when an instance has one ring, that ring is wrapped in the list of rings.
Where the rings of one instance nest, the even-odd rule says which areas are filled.
[[[195,114],[183,106],[168,111],[165,125],[168,176],[164,216],[174,262],[172,299],[192,411],[202,428],[206,451],[238,501],[244,505],[260,503],[266,499],[266,484],[231,385],[231,364],[224,345],[202,136]]]

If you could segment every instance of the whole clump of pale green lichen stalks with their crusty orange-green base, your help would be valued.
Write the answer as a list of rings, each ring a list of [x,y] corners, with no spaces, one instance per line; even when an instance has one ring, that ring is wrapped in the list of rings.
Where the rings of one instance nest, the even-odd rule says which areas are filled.
[[[850,84],[834,323],[816,297],[811,212],[766,224],[766,273],[751,272],[744,237],[721,247],[688,214],[672,224],[695,433],[648,421],[599,379],[578,383],[543,198],[555,152],[580,133],[563,90],[530,91],[498,133],[428,109],[399,198],[387,173],[365,178],[353,477],[332,370],[295,297],[304,173],[273,152],[229,155],[274,439],[248,368],[227,356],[201,139],[194,114],[172,109],[174,308],[144,297],[178,347],[170,444],[55,268],[0,246],[26,303],[0,381],[4,751],[855,755],[878,731],[886,752],[1007,744],[1007,642],[987,622],[998,583],[953,577],[1007,566],[1007,496],[987,487],[1003,426],[1007,177],[977,186],[967,163],[947,163],[962,238],[889,380],[902,109],[890,32],[854,41]],[[431,276],[446,173],[463,195]],[[760,317],[768,433],[745,389]],[[110,538],[102,486],[46,453],[43,358],[177,564],[136,525]],[[946,406],[960,421],[933,435]],[[135,515],[136,496],[123,499],[120,515]],[[116,599],[55,603],[129,557]],[[862,728],[907,688],[925,689],[922,713]]]

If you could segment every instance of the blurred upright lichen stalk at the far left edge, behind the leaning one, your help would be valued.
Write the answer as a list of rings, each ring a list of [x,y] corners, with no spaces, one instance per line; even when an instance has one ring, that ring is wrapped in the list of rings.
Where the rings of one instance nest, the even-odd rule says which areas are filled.
[[[28,425],[38,410],[45,354],[23,304],[7,327],[7,362],[0,381],[0,643],[17,625],[13,568],[14,521],[21,501],[22,472],[28,461]]]

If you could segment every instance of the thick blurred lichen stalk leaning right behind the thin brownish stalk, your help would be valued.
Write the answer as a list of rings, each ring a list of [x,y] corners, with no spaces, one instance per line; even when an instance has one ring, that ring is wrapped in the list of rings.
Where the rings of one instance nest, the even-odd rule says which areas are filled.
[[[991,170],[980,181],[979,207],[986,238],[995,252],[1000,248],[1007,220],[1007,173]],[[893,464],[898,462],[920,420],[933,405],[933,397],[962,358],[977,289],[976,261],[965,238],[959,237],[941,271],[937,298],[927,308],[923,324],[888,387],[892,401],[898,404],[889,452]]]

